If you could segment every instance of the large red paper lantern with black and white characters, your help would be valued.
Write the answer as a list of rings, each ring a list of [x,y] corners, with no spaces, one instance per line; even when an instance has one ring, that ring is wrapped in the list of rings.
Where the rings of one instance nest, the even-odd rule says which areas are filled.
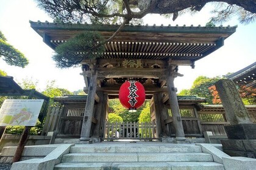
[[[138,81],[126,81],[119,89],[120,103],[126,107],[126,109],[129,109],[129,112],[136,112],[144,103],[145,98],[145,89]]]

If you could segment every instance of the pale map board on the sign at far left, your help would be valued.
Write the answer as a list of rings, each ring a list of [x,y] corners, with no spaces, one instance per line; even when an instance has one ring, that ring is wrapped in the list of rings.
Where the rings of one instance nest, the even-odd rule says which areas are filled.
[[[0,108],[0,126],[35,126],[43,100],[5,100]]]

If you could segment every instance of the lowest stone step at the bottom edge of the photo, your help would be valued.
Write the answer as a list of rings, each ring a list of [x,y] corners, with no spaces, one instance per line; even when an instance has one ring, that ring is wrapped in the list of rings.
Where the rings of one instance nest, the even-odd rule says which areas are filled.
[[[54,170],[79,169],[119,169],[119,170],[224,170],[224,166],[216,162],[185,161],[185,162],[88,162],[88,163],[59,163]]]

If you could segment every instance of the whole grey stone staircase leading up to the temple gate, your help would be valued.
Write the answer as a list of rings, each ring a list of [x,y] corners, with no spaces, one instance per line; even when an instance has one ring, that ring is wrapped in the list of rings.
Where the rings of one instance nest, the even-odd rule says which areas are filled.
[[[194,144],[112,142],[76,144],[54,169],[224,170],[224,166]]]

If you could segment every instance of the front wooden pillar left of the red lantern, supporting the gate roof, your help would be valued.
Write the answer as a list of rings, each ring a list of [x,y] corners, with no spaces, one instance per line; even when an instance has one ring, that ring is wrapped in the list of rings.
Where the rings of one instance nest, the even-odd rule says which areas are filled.
[[[90,84],[88,88],[87,101],[85,104],[85,114],[83,118],[81,135],[79,140],[90,140],[91,120],[93,117],[93,107],[97,87],[97,75],[98,72],[96,70],[92,70]]]

